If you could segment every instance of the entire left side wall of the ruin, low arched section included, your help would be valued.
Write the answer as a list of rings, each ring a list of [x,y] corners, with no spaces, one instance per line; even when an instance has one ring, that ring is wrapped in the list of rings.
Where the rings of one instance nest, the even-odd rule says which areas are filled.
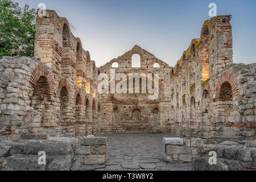
[[[1,60],[1,139],[99,132],[98,69],[55,11],[36,19],[35,58]]]

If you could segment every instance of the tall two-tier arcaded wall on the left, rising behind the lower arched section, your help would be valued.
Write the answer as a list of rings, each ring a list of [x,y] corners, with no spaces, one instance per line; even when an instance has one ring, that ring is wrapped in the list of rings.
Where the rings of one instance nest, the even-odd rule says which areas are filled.
[[[82,48],[81,40],[73,36],[67,19],[59,17],[55,11],[38,17],[36,24],[35,57],[51,69],[54,85],[59,85],[54,90],[59,94],[55,98],[59,102],[56,103],[57,113],[60,110],[64,113],[57,116],[57,122],[67,132],[97,132],[93,129],[93,121],[98,117],[95,62]],[[61,94],[67,94],[64,101]]]

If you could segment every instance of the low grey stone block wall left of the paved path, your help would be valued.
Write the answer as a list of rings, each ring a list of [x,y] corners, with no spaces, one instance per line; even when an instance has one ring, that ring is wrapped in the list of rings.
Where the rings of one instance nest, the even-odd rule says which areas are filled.
[[[2,171],[80,171],[83,166],[106,162],[104,137],[49,137],[46,140],[0,142]],[[39,164],[39,152],[46,154],[46,164]]]

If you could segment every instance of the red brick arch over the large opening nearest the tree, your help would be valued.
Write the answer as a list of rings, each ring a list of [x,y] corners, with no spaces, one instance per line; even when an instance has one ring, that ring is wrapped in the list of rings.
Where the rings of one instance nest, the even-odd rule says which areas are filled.
[[[49,90],[48,90],[49,95],[53,95],[54,86],[53,86],[52,75],[51,75],[51,72],[49,71],[49,69],[45,65],[39,64],[38,67],[36,67],[34,69],[34,71],[31,74],[31,77],[30,77],[31,84],[33,84],[35,86],[36,83],[38,82],[39,78],[42,76],[46,77],[47,87],[49,88]]]

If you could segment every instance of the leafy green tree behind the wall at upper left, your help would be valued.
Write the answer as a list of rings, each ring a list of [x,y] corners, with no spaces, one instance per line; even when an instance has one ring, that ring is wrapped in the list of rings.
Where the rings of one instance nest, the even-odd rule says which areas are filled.
[[[0,58],[34,56],[36,10],[28,5],[0,0]]]

